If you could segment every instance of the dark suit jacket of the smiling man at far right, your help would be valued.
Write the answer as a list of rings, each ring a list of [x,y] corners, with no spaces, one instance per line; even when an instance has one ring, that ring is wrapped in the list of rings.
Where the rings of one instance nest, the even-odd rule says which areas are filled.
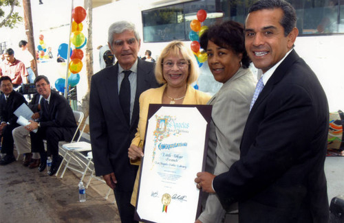
[[[327,222],[328,106],[316,75],[292,50],[257,98],[240,159],[213,187],[240,222]]]

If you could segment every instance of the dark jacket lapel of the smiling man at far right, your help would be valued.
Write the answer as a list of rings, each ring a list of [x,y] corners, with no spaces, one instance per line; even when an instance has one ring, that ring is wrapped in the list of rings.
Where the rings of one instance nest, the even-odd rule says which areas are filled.
[[[254,113],[254,110],[261,104],[261,102],[264,101],[264,99],[270,94],[270,92],[275,88],[275,86],[284,78],[286,73],[288,72],[288,69],[292,67],[292,64],[299,59],[299,55],[297,55],[297,52],[292,49],[290,54],[286,57],[286,59],[279,64],[277,69],[274,73],[272,73],[271,78],[266,82],[266,86],[264,86],[264,89],[259,94],[257,100],[255,101],[255,104],[252,107],[251,113]],[[250,117],[250,115],[248,115]]]

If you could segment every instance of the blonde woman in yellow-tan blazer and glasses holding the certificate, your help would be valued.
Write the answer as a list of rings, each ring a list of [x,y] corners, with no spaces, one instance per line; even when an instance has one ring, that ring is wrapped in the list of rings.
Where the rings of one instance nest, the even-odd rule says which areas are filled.
[[[193,89],[200,73],[195,56],[189,47],[181,41],[172,41],[163,50],[155,67],[155,78],[162,85],[158,89],[149,89],[140,96],[140,119],[138,132],[131,141],[128,157],[133,165],[140,165],[143,156],[142,145],[146,130],[149,104],[206,104],[211,95]],[[142,142],[142,143],[140,143]],[[136,204],[138,180],[136,175],[131,204]]]

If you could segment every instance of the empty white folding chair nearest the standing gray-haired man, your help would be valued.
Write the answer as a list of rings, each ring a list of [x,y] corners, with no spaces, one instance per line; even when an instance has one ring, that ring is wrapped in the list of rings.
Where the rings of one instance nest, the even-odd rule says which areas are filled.
[[[83,133],[83,131],[85,130],[85,127],[88,125],[89,125],[89,117],[87,117],[87,119],[85,120],[85,124],[83,126],[83,130],[81,130],[81,133]],[[78,141],[74,143],[66,143],[62,145],[62,148],[65,150],[64,160],[67,161],[67,163],[65,164],[65,168],[63,169],[63,172],[60,178],[63,178],[63,175],[65,174],[65,171],[68,168],[82,174],[80,181],[83,181],[83,178],[85,177],[87,170],[88,169],[90,171],[93,170],[89,167],[89,165],[92,163],[92,159],[87,159],[87,156],[85,156],[82,153],[82,152],[92,151],[91,143],[87,143],[85,141],[79,141],[79,140],[80,140],[80,137]],[[69,157],[67,158],[67,156]],[[78,167],[71,166],[72,159],[76,161]]]

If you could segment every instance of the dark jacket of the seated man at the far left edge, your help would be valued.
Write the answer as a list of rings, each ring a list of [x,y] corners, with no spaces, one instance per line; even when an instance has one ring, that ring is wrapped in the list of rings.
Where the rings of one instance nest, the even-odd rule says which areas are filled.
[[[21,104],[28,104],[21,93],[17,91],[12,91],[8,97],[8,102],[6,102],[5,95],[0,95],[0,117],[1,122],[9,122],[11,125],[19,126],[17,124],[18,117],[14,115],[14,111],[21,106]]]

